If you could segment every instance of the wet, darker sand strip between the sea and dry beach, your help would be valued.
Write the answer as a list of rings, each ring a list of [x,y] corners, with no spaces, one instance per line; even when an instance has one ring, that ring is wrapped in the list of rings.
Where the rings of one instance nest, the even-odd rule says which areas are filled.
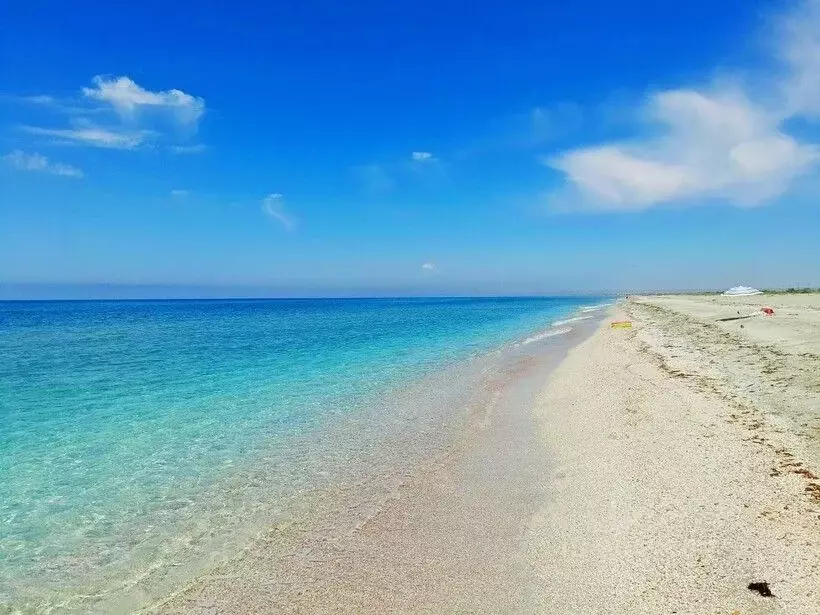
[[[330,507],[311,524],[272,528],[147,611],[530,611],[540,587],[522,539],[545,500],[551,463],[531,410],[549,374],[601,318],[509,344],[504,369],[482,369],[467,406],[450,409],[468,418],[453,446],[364,516],[345,520],[363,505],[357,489],[320,498]]]

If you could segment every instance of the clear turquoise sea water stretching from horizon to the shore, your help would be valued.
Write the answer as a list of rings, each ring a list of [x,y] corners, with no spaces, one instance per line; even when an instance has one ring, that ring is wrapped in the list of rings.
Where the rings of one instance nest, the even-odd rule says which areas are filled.
[[[596,302],[1,302],[0,612],[76,606],[270,521],[311,442],[341,463],[326,425]]]

